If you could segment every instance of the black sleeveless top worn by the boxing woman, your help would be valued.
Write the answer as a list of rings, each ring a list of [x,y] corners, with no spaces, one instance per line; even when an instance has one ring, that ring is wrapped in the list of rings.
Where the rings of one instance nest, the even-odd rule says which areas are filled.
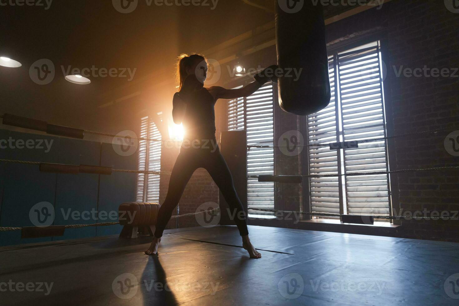
[[[206,88],[193,93],[182,121],[185,139],[215,139],[215,102]]]

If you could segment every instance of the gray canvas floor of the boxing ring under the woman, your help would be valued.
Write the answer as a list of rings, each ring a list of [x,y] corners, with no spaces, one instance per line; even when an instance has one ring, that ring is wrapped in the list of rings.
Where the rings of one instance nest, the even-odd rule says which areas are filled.
[[[166,231],[157,257],[149,237],[3,247],[1,305],[459,304],[459,244],[249,231],[261,259],[234,226]]]

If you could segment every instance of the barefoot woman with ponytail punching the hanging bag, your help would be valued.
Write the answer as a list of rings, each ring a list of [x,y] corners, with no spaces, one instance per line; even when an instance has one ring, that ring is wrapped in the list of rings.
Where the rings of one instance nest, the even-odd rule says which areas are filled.
[[[275,66],[269,68],[272,70]],[[248,251],[251,258],[261,258],[261,254],[250,242],[246,214],[236,193],[229,168],[217,145],[214,106],[218,99],[235,99],[252,95],[272,77],[265,76],[267,74],[265,69],[255,76],[255,82],[241,89],[224,89],[218,86],[204,88],[207,69],[207,60],[200,54],[179,56],[177,63],[179,92],[174,95],[172,117],[176,124],[183,122],[186,134],[183,144],[187,145],[182,144],[180,148],[169,181],[166,200],[158,212],[154,239],[145,254],[157,254],[162,232],[172,211],[179,203],[193,172],[202,167],[209,172],[232,210],[231,213],[235,216],[235,223],[242,237],[242,247]]]

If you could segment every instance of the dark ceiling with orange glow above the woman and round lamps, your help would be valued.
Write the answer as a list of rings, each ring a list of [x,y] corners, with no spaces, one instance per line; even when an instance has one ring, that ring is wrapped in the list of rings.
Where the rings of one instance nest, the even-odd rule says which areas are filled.
[[[0,56],[22,63],[20,68],[0,67],[0,113],[63,125],[89,118],[107,93],[129,86],[128,78],[91,76],[92,83],[83,86],[65,81],[62,70],[129,68],[135,69],[134,81],[155,72],[162,72],[157,80],[173,78],[180,53],[206,50],[274,19],[272,11],[245,3],[266,4],[260,0],[219,0],[214,8],[212,0],[205,1],[209,6],[150,2],[139,0],[128,14],[118,12],[110,0],[54,0],[48,9],[45,0],[39,1],[44,6],[0,6]],[[327,6],[325,17],[351,8]],[[55,65],[55,78],[47,85],[29,76],[40,59]]]

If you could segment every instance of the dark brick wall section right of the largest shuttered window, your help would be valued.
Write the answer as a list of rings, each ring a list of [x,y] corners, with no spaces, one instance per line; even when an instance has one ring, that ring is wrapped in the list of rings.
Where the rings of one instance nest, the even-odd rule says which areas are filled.
[[[388,18],[389,69],[394,133],[442,128],[459,123],[459,78],[397,77],[393,67],[459,67],[459,14],[443,1],[394,1]],[[453,72],[453,70],[451,70]],[[458,73],[456,73],[456,76]],[[397,139],[396,167],[458,166],[459,157],[448,154],[443,142],[452,130],[433,135]],[[398,175],[400,210],[458,211],[458,171],[419,172]],[[457,221],[401,222],[410,238],[458,241]]]

